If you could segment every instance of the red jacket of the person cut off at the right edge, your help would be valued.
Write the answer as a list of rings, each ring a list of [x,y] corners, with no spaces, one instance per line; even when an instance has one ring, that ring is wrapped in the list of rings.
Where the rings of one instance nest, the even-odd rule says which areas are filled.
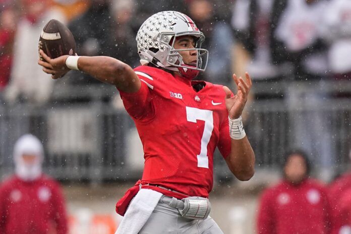
[[[332,233],[338,234],[343,226],[351,226],[351,173],[342,175],[329,187],[329,199]]]

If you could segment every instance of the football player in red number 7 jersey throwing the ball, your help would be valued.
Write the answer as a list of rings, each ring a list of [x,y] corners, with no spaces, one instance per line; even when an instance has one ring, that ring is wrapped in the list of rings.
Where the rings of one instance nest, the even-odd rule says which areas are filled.
[[[145,166],[142,179],[118,202],[116,211],[124,215],[137,201],[148,204],[151,196],[136,198],[143,189],[162,195],[155,206],[137,209],[143,212],[150,206],[152,213],[141,230],[129,233],[222,233],[208,216],[216,147],[239,180],[254,174],[255,155],[241,119],[250,76],[246,73],[244,80],[233,75],[236,95],[225,86],[194,81],[207,64],[204,39],[187,15],[165,11],[140,27],[136,40],[141,66],[135,69],[106,56],[50,59],[40,51],[45,61],[38,64],[53,79],[75,69],[120,91],[143,143]],[[137,217],[130,218],[132,226],[141,220]]]

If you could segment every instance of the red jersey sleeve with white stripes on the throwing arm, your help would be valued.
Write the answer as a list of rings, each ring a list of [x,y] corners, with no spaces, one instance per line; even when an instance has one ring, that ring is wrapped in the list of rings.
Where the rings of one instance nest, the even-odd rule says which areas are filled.
[[[125,93],[120,91],[120,95],[127,112],[132,118],[139,121],[148,121],[152,119],[155,114],[151,96],[153,79],[145,73],[135,73],[141,81],[140,89],[135,93]]]

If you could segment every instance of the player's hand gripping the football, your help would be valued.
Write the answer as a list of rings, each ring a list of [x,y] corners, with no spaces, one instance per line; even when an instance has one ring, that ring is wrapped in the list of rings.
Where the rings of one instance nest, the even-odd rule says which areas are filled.
[[[51,74],[52,79],[61,78],[70,71],[70,69],[66,66],[66,60],[69,55],[63,55],[56,57],[56,59],[51,59],[41,49],[39,53],[43,57],[44,61],[39,59],[38,64],[43,67],[43,71],[45,73]]]

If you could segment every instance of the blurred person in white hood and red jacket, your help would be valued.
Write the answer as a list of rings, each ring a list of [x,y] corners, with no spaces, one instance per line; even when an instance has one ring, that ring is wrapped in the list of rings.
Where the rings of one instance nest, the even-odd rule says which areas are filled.
[[[20,137],[14,159],[15,175],[0,186],[0,233],[68,233],[60,185],[41,171],[41,142],[30,134]]]

